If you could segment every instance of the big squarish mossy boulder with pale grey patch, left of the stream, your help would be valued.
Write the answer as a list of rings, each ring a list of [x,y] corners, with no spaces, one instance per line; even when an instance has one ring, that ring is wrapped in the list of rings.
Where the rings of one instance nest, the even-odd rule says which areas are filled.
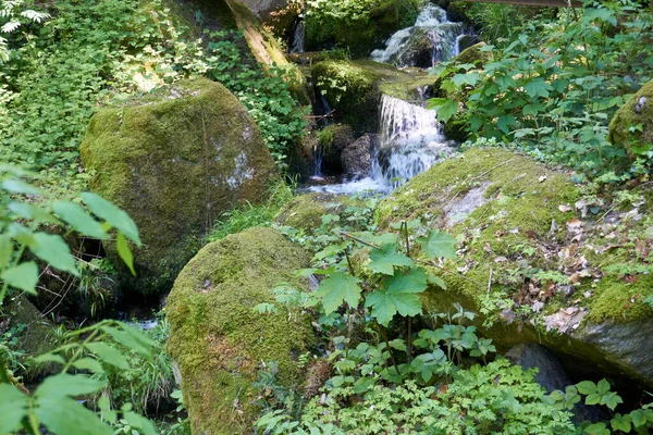
[[[131,290],[146,295],[170,289],[212,220],[233,204],[262,199],[278,176],[243,104],[207,79],[100,109],[82,144],[82,161],[97,173],[91,190],[138,225],[144,247],[135,251],[137,276],[123,275]],[[118,258],[114,244],[104,248]]]

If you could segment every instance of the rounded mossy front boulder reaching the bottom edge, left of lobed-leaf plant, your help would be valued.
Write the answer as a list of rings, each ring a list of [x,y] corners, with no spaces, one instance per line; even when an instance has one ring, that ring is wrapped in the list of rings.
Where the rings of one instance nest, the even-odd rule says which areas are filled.
[[[283,385],[299,382],[296,359],[312,340],[310,319],[252,308],[274,303],[280,283],[306,288],[295,271],[309,260],[278,231],[249,228],[207,245],[180,273],[168,298],[169,349],[194,433],[250,433],[259,412],[251,384],[262,364],[274,361]]]

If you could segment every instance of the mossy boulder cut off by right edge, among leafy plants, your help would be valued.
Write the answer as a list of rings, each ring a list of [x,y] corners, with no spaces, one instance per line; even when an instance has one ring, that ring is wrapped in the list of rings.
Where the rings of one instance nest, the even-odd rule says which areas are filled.
[[[641,126],[633,132],[630,127]],[[634,157],[633,147],[653,145],[653,80],[646,83],[624,104],[609,123],[608,140]]]

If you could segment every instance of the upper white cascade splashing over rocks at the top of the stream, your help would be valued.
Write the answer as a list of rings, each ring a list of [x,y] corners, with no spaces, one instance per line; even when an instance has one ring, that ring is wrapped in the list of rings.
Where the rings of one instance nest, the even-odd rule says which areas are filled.
[[[427,4],[414,26],[396,32],[387,40],[385,49],[372,51],[371,58],[398,67],[431,67],[435,62],[457,54],[463,32],[461,23],[446,20],[444,9]]]

